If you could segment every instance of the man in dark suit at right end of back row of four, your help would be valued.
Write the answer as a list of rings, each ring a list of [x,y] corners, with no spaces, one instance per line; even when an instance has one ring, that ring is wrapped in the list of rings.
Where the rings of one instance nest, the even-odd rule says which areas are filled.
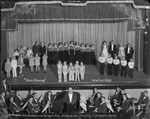
[[[133,57],[133,53],[134,53],[134,50],[131,47],[131,44],[128,43],[127,47],[125,48],[125,57],[126,57],[127,62],[129,62],[130,59]]]

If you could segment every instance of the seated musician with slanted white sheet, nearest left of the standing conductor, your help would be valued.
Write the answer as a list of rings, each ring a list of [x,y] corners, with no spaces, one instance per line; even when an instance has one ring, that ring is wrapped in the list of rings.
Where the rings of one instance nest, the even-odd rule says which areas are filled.
[[[45,112],[45,111],[47,111],[48,113],[50,113],[51,103],[52,103],[52,92],[48,91],[45,94],[45,97],[44,97],[44,108],[42,110],[42,113]]]

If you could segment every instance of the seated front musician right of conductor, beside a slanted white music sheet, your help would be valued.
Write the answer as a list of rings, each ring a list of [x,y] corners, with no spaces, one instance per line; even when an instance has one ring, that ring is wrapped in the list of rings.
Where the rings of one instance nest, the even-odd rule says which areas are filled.
[[[104,113],[107,110],[107,104],[106,99],[104,96],[101,97],[101,103],[99,104],[98,108],[96,108],[94,111],[99,113]]]

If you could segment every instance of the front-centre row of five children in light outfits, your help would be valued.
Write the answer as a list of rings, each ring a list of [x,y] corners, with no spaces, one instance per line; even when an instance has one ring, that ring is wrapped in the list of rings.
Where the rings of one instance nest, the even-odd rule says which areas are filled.
[[[83,62],[79,64],[79,61],[76,61],[75,65],[73,65],[73,63],[71,62],[69,66],[67,65],[66,61],[64,61],[63,64],[61,63],[61,61],[58,61],[57,72],[58,72],[58,82],[62,82],[62,79],[64,82],[80,81],[84,80],[85,66]]]

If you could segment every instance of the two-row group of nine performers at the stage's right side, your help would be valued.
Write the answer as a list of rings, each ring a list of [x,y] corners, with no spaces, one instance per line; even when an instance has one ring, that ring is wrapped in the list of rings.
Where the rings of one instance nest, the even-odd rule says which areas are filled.
[[[98,59],[100,64],[100,74],[104,75],[104,71],[107,69],[108,75],[114,74],[114,76],[118,76],[119,69],[121,69],[121,77],[127,77],[128,70],[128,76],[133,78],[133,53],[134,50],[129,43],[127,44],[126,48],[120,44],[117,51],[117,47],[113,40],[110,42],[109,46],[107,46],[107,42],[104,41],[102,44],[102,51]],[[107,67],[105,67],[106,65]]]

